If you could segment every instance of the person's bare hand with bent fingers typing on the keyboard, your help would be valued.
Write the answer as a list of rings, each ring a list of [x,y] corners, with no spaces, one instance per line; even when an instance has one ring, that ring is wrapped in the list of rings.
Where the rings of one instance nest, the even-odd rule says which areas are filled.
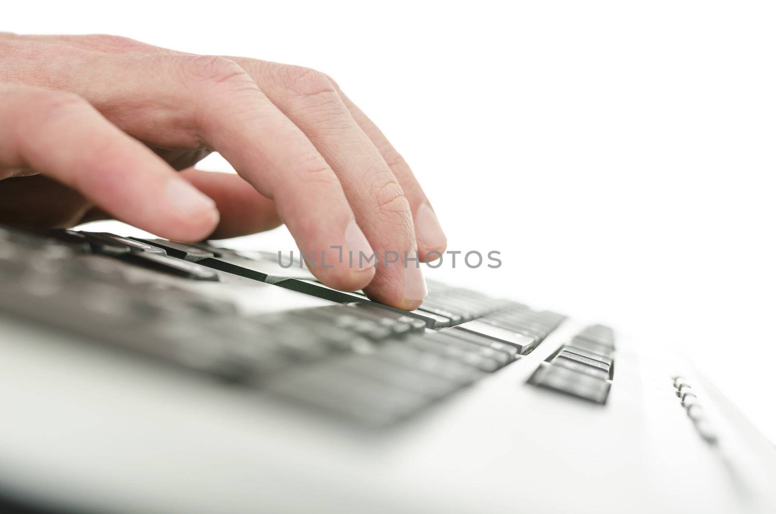
[[[112,217],[176,241],[286,224],[305,255],[327,251],[326,267],[308,260],[321,282],[408,310],[425,284],[405,252],[424,262],[447,245],[404,159],[310,68],[0,33],[0,120],[0,221]],[[210,151],[237,175],[193,168]],[[378,262],[338,262],[332,245]]]

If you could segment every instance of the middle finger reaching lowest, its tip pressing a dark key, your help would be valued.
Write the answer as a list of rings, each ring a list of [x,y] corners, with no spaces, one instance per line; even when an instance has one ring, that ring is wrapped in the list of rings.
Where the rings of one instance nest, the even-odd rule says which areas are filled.
[[[385,304],[416,308],[426,296],[426,287],[410,204],[334,85],[326,75],[309,68],[235,60],[300,127],[341,182],[355,219],[376,250],[376,274],[365,293]]]

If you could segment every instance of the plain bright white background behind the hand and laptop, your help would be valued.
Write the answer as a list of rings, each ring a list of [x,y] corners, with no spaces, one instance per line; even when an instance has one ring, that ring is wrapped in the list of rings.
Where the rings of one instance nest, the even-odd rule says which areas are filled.
[[[502,252],[501,269],[448,269],[449,281],[674,342],[776,440],[769,5],[3,10],[0,30],[113,33],[326,72],[413,166],[449,247]],[[256,245],[289,245],[284,231]]]

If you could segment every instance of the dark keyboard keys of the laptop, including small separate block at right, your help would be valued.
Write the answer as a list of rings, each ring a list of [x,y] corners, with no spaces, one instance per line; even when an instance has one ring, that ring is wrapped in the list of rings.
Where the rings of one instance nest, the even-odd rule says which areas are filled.
[[[0,284],[0,311],[367,425],[501,370],[565,319],[431,280],[421,307],[400,311],[267,252],[89,231],[0,228]],[[251,287],[327,301],[250,312],[231,293]],[[613,355],[611,329],[594,325],[530,383],[603,404]]]

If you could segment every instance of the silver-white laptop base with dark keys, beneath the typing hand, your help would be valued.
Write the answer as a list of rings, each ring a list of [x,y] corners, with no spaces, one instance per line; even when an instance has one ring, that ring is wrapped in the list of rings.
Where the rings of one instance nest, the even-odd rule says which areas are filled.
[[[610,334],[601,325],[608,320],[554,316],[515,301],[530,299],[491,299],[433,280],[427,311],[404,320],[384,309],[381,318],[374,309],[383,307],[327,290],[266,254],[213,245],[180,254],[176,246],[185,247],[170,241],[130,240],[163,249],[180,261],[175,267],[115,234],[79,234],[5,234],[6,248],[15,249],[0,256],[7,420],[0,491],[14,505],[42,512],[772,512],[776,505],[774,446],[670,340],[640,340],[638,328]],[[203,279],[211,275],[217,280]],[[197,315],[171,309],[181,298],[210,304],[198,305]],[[166,321],[126,319],[130,307]],[[442,307],[460,309],[462,318],[440,321]],[[270,354],[241,346],[229,350],[241,352],[233,366],[218,352],[243,336],[210,345],[217,339],[203,332],[210,325],[198,325],[209,317],[227,333],[258,325],[246,340],[262,349],[287,339],[281,353],[293,358],[265,370]],[[334,328],[352,335],[350,346],[338,346],[345,332]],[[526,339],[536,334],[543,336]],[[329,338],[331,353],[307,345],[318,336]],[[172,342],[175,352],[159,353],[158,342]],[[508,362],[497,360],[515,349]]]

